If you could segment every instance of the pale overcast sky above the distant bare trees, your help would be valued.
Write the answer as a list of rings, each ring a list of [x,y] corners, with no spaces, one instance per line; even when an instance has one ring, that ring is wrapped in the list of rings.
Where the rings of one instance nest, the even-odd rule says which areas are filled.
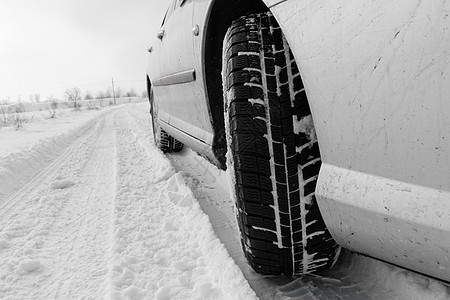
[[[147,48],[168,0],[0,0],[0,100],[145,89]]]

